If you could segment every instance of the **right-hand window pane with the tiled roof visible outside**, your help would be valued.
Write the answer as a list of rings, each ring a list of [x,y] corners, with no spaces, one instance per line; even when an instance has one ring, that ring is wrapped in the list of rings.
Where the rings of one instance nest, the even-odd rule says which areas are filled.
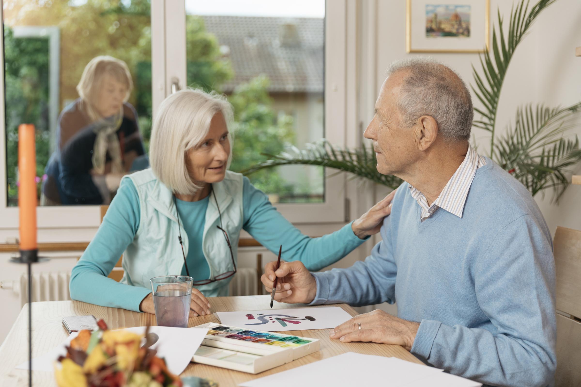
[[[234,106],[233,171],[324,138],[324,0],[186,0],[185,10],[187,84]],[[272,202],[324,202],[321,167],[249,178]]]

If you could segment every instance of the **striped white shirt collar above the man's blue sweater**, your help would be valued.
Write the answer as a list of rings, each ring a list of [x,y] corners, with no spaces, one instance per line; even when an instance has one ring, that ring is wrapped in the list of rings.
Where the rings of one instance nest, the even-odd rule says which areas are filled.
[[[464,203],[466,202],[466,197],[468,196],[468,190],[472,185],[472,180],[476,173],[476,169],[486,165],[486,158],[476,153],[472,146],[468,144],[468,151],[466,157],[460,167],[456,169],[454,175],[448,180],[446,186],[440,193],[440,196],[428,207],[428,201],[424,194],[415,189],[412,185],[409,185],[411,196],[417,200],[418,204],[422,208],[421,221],[424,222],[425,219],[429,218],[436,208],[440,207],[462,218],[462,212],[464,212]]]

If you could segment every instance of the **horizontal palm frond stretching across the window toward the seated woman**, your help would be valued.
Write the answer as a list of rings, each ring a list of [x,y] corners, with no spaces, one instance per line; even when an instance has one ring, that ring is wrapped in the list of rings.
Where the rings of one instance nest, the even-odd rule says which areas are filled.
[[[375,151],[373,147],[363,145],[361,149],[347,150],[333,147],[327,140],[306,144],[306,149],[299,150],[289,146],[288,151],[280,154],[264,154],[270,160],[261,162],[242,171],[245,175],[263,168],[279,167],[281,165],[318,165],[349,172],[354,178],[365,178],[372,182],[396,189],[401,179],[392,175],[382,175],[376,169]]]

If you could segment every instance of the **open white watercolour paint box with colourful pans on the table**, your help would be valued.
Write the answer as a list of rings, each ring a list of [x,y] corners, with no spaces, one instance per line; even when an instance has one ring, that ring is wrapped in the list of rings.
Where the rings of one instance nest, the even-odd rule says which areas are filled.
[[[192,360],[258,374],[317,352],[318,339],[263,332],[229,325],[206,323],[193,328],[208,328],[206,338]]]

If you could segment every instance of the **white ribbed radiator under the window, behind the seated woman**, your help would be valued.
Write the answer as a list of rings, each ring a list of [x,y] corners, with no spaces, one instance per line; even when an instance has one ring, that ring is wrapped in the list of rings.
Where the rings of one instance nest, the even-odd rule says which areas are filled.
[[[70,300],[69,280],[70,273],[41,272],[33,273],[33,302],[34,301],[66,301]],[[262,294],[258,273],[253,267],[239,267],[230,281],[230,295],[245,296]],[[28,277],[20,276],[20,287],[13,291],[20,295],[20,306],[28,302]]]

